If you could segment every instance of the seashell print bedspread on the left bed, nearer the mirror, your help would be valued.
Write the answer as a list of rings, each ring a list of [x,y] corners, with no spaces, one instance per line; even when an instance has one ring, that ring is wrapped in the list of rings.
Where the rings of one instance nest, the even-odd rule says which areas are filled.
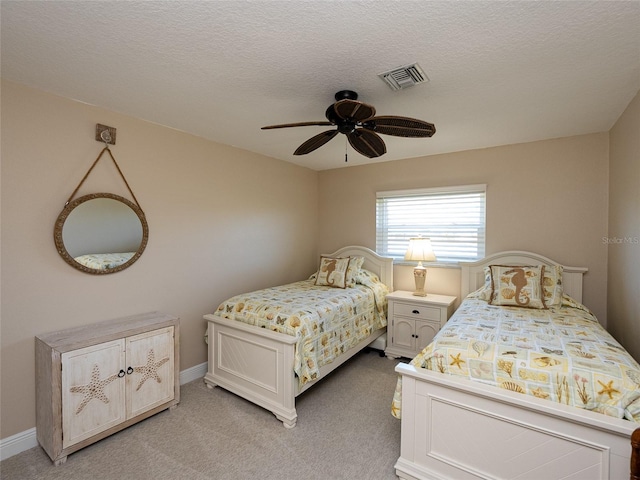
[[[387,325],[388,289],[373,278],[367,285],[332,288],[314,280],[236,295],[214,315],[298,338],[295,365],[300,386],[375,330]]]

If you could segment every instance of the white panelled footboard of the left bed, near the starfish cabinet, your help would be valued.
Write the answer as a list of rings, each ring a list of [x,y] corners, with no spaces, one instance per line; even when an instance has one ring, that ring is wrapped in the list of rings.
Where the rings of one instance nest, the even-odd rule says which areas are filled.
[[[219,385],[296,424],[295,337],[205,315],[209,322],[208,386]]]

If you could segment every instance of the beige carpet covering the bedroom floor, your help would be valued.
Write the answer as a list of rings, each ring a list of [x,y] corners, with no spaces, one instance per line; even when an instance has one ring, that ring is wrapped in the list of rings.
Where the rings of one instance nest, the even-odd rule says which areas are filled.
[[[3,480],[395,479],[397,362],[360,353],[297,400],[298,425],[201,380],[181,402],[54,467],[40,447],[0,463]]]

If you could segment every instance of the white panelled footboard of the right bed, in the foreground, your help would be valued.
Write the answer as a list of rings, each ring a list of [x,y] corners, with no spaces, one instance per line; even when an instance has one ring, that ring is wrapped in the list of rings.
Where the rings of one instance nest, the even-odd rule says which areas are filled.
[[[636,424],[399,364],[405,479],[624,479]]]

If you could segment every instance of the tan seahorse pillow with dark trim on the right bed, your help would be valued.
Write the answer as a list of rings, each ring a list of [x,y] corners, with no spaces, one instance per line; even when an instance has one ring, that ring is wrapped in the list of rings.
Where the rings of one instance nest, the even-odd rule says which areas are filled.
[[[491,265],[491,305],[547,308],[542,294],[544,265]]]

